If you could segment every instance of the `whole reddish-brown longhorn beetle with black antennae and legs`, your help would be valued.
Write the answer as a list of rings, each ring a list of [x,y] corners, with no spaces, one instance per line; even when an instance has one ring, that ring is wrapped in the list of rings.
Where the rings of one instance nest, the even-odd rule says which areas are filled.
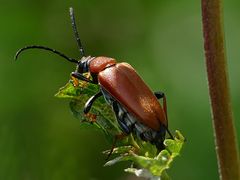
[[[52,51],[68,61],[77,63],[72,76],[79,80],[98,84],[100,92],[92,96],[85,104],[84,113],[87,114],[93,102],[100,96],[104,96],[106,102],[112,107],[118,124],[125,134],[134,133],[144,141],[149,141],[161,150],[168,130],[166,98],[164,93],[153,93],[128,63],[117,63],[109,57],[86,57],[77,32],[73,9],[70,8],[72,25],[82,54],[81,60],[69,58],[66,55],[44,46],[27,46],[20,49],[18,55],[32,48]],[[90,72],[90,79],[83,73]],[[158,99],[163,98],[163,108]]]

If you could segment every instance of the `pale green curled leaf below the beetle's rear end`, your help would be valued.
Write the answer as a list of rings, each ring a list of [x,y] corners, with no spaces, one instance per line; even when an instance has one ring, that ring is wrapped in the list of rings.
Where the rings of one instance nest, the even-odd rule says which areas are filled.
[[[146,174],[148,174],[147,172],[149,172],[151,176],[148,176],[148,178],[154,178],[155,176],[164,176],[166,178],[167,174],[165,171],[170,168],[174,158],[180,154],[184,141],[184,137],[181,135],[181,133],[176,131],[174,140],[166,139],[164,141],[166,149],[162,150],[156,157],[142,156],[131,150],[128,152],[119,153],[118,157],[108,161],[105,166],[114,165],[122,161],[131,161],[141,168],[128,168],[126,170],[127,172],[134,173],[135,175],[141,177],[146,177]]]

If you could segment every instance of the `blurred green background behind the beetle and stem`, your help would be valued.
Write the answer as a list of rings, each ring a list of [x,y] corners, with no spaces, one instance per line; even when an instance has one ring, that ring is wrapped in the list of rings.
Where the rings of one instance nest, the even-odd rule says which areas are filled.
[[[131,179],[129,164],[103,167],[111,147],[80,129],[68,101],[54,94],[75,65],[41,50],[14,62],[17,49],[40,44],[79,57],[73,6],[87,54],[132,64],[168,99],[169,127],[187,138],[172,179],[218,179],[203,53],[200,1],[10,0],[0,6],[0,179]],[[240,118],[240,1],[224,2],[233,110]],[[236,128],[240,128],[236,121]],[[238,133],[238,136],[240,134]]]

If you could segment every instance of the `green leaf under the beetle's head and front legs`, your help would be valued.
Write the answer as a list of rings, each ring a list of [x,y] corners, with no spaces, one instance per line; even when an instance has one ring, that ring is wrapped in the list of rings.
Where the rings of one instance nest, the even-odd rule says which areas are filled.
[[[99,92],[99,86],[79,81],[78,86],[74,86],[70,80],[64,87],[60,88],[55,95],[58,98],[70,99],[70,109],[73,115],[80,120],[82,127],[94,127],[104,132],[109,141],[113,141],[115,135],[120,134],[114,113],[111,107],[105,102],[103,97],[98,98],[90,113],[86,116],[83,113],[87,100]]]

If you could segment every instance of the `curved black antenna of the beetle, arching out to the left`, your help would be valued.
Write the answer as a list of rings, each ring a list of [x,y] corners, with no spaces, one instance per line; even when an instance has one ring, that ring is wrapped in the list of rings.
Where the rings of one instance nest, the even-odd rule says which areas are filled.
[[[23,51],[25,51],[25,50],[27,50],[27,49],[44,49],[44,50],[47,50],[47,51],[51,51],[51,52],[53,52],[53,53],[55,53],[55,54],[58,54],[59,56],[67,59],[67,60],[70,61],[70,62],[78,63],[78,61],[77,61],[76,59],[69,58],[69,57],[67,57],[65,54],[63,54],[63,53],[61,53],[61,52],[59,52],[59,51],[57,51],[57,50],[55,50],[55,49],[51,49],[51,48],[49,48],[49,47],[39,46],[39,45],[31,45],[31,46],[26,46],[26,47],[23,47],[23,48],[19,49],[18,52],[17,52],[16,55],[15,55],[15,60],[17,60],[17,58],[18,58],[18,56],[19,56],[19,54],[20,54],[21,52],[23,52]]]

